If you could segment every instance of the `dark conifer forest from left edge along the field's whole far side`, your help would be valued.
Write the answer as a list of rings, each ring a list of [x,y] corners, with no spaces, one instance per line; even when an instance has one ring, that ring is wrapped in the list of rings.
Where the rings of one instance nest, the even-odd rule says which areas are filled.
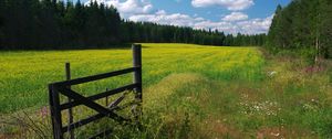
[[[133,42],[262,45],[266,34],[225,34],[123,20],[96,2],[0,0],[0,50],[98,49]]]

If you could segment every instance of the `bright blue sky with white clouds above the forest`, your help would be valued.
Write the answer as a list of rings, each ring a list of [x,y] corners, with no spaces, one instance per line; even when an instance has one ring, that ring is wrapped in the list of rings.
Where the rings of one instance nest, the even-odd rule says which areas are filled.
[[[91,0],[81,0],[89,4]],[[291,0],[93,0],[114,6],[122,18],[160,24],[219,30],[226,33],[266,33],[278,4]],[[75,2],[75,0],[74,0]]]

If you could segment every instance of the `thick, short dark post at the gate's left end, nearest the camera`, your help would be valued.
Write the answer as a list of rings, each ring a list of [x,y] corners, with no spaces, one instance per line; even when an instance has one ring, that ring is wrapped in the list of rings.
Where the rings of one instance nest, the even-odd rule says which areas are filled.
[[[53,127],[53,138],[63,139],[62,133],[62,119],[61,119],[61,109],[60,109],[60,97],[59,92],[55,90],[54,85],[49,85],[49,95],[50,95],[50,109]]]

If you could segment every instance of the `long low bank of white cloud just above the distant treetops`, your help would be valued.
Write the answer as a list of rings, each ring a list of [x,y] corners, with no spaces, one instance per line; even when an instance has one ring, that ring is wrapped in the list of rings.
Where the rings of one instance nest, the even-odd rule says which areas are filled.
[[[153,14],[137,14],[128,18],[132,21],[147,21],[156,22],[159,24],[172,24],[179,26],[191,26],[194,29],[204,29],[204,30],[219,30],[230,34],[237,34],[238,32],[245,34],[258,34],[267,33],[269,31],[272,15],[266,19],[251,19],[248,18],[241,21],[218,21],[214,22],[206,20],[200,17],[190,17],[181,13],[167,14],[166,11],[157,11]]]

